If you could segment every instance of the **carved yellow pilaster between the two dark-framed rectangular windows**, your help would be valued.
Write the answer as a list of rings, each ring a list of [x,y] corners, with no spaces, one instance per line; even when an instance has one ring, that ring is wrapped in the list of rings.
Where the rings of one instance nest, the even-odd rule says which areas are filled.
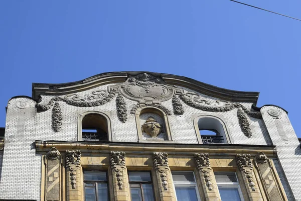
[[[112,151],[110,153],[110,166],[109,174],[113,180],[113,200],[130,201],[130,189],[125,166],[125,153]]]

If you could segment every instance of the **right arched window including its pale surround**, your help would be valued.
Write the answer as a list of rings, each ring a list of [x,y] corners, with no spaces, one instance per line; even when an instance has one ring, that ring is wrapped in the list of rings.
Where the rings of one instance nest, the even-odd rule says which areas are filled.
[[[224,122],[215,116],[202,115],[194,120],[200,144],[230,143]]]

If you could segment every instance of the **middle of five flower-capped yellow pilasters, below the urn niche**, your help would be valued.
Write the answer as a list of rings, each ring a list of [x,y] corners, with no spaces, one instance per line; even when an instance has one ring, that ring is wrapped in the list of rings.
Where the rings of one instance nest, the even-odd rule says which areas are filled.
[[[168,153],[153,153],[153,162],[159,186],[160,200],[176,200],[171,178],[172,174],[168,164]]]

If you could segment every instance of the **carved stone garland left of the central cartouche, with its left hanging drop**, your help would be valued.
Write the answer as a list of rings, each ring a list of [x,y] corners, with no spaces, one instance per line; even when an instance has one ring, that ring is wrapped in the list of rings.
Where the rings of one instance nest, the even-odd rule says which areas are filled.
[[[86,96],[85,98],[80,98],[78,94],[74,93],[70,95],[65,95],[64,97],[59,97],[59,96],[53,97],[48,102],[48,104],[45,105],[37,104],[36,107],[38,111],[47,111],[53,107],[52,128],[55,132],[60,132],[62,129],[61,126],[62,126],[63,117],[62,117],[61,107],[58,101],[63,101],[69,105],[77,106],[77,107],[94,107],[94,106],[102,106],[110,102],[113,99],[113,97],[115,97],[115,93],[108,92],[106,90],[92,91],[92,94]],[[124,111],[124,108],[122,108],[121,111]]]

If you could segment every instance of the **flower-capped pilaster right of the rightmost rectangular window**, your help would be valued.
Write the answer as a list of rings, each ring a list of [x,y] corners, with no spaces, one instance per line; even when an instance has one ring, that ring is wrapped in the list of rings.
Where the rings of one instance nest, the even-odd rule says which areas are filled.
[[[248,197],[250,200],[263,200],[256,177],[253,171],[253,165],[250,154],[237,154],[237,166],[242,175],[245,188],[247,189]]]

